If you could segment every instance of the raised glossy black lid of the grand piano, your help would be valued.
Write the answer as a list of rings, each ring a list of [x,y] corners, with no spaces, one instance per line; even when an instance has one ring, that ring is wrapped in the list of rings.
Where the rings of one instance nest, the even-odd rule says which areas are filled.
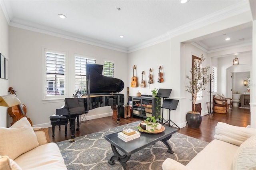
[[[124,82],[114,77],[102,75],[103,65],[86,64],[86,89],[90,84],[90,94],[118,93],[124,89]],[[89,82],[90,81],[90,82]]]

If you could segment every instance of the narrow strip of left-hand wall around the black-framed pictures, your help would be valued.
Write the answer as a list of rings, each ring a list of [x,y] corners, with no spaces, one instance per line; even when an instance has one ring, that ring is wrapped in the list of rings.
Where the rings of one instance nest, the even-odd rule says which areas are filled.
[[[0,7],[0,53],[4,55],[9,60],[9,53],[8,53],[8,23]],[[0,79],[0,95],[7,95],[8,94],[8,86],[9,80]],[[9,115],[7,115],[7,107],[0,106],[0,127],[7,127],[7,120]]]

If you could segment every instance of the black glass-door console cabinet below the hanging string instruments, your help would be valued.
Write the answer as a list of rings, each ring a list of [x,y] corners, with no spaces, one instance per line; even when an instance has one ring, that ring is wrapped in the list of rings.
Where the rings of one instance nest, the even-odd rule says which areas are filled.
[[[144,118],[156,116],[156,98],[132,96],[132,114]],[[160,115],[160,107],[158,107],[158,115]]]

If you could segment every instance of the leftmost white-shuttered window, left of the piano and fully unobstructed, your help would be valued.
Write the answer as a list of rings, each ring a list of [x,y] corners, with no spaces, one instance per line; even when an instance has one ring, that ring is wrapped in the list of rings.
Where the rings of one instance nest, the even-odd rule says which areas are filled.
[[[45,98],[65,94],[65,53],[45,51],[46,83]]]

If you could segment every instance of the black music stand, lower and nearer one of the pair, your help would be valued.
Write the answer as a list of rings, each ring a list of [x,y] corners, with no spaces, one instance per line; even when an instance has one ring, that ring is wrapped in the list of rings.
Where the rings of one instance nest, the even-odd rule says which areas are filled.
[[[172,127],[173,125],[175,125],[176,127],[178,127],[178,125],[176,125],[170,118],[171,115],[171,110],[176,110],[177,106],[178,106],[179,100],[174,100],[174,99],[164,99],[163,101],[163,105],[162,108],[164,109],[169,109],[169,120],[166,121],[165,123],[168,123],[168,127]],[[173,123],[173,125],[171,126],[170,123]],[[165,124],[164,123],[164,124]],[[164,125],[163,124],[163,125]],[[180,129],[180,127],[178,127]]]

